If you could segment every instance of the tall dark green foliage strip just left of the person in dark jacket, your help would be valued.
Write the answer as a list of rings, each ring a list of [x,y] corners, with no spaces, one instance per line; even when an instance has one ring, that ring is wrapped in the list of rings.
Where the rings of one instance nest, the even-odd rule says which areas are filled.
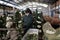
[[[18,39],[17,40],[21,40],[22,37],[23,37],[23,28],[22,28],[22,22],[20,23],[19,21],[22,21],[21,20],[21,14],[19,13],[19,11],[17,11],[15,13],[15,23],[16,23],[16,26],[17,26],[17,31],[19,32],[19,35],[18,35]]]

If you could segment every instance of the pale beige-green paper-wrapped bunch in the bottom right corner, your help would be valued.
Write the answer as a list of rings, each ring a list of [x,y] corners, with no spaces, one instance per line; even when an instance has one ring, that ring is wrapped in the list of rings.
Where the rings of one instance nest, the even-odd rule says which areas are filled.
[[[60,28],[54,29],[49,22],[43,25],[44,40],[60,40]]]

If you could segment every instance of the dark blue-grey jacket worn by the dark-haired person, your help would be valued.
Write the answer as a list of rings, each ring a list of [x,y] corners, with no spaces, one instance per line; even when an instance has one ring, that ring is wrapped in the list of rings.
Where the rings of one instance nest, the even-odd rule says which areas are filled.
[[[33,16],[31,14],[23,17],[23,25],[28,27],[33,25]]]

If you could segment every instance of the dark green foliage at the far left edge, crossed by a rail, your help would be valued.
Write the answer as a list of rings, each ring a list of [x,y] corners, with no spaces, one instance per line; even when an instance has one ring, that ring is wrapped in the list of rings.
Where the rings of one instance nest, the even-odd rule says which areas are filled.
[[[6,25],[6,15],[0,17],[0,28],[6,28],[5,25]],[[6,30],[5,31],[0,30],[0,37],[2,37],[3,34],[6,35],[6,33],[7,33]]]

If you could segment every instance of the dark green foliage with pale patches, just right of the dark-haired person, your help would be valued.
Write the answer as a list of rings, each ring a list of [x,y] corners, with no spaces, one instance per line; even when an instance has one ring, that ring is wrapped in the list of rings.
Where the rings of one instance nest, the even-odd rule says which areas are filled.
[[[34,17],[34,27],[35,28],[38,28],[37,25],[42,25],[43,23],[43,13],[38,13],[38,10],[36,9],[35,12],[33,12],[33,17]],[[37,21],[41,22],[41,23],[38,23]]]

